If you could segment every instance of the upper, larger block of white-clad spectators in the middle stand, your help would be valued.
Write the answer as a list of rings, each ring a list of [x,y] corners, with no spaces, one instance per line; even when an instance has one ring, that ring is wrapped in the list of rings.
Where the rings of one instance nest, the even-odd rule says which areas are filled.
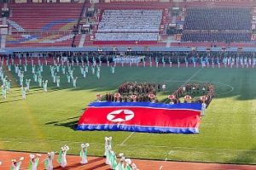
[[[101,31],[160,31],[163,10],[104,10]]]

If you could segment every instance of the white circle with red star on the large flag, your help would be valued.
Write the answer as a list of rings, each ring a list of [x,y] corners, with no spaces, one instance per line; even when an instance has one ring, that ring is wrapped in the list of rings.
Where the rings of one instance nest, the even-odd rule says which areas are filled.
[[[107,119],[110,122],[130,121],[134,117],[134,112],[130,110],[118,110],[108,113]]]

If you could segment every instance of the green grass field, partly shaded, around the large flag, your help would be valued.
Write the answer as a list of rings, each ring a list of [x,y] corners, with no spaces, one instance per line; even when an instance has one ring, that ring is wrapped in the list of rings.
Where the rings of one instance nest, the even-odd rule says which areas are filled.
[[[76,66],[75,66],[76,67]],[[7,68],[4,68],[7,70]],[[68,144],[68,154],[79,155],[80,144],[89,142],[89,155],[102,156],[104,137],[113,137],[113,150],[126,157],[174,161],[211,161],[256,164],[256,70],[212,68],[117,67],[115,74],[102,66],[101,78],[86,78],[76,67],[78,87],[72,88],[61,76],[61,88],[52,82],[49,67],[44,66],[43,80],[49,80],[48,92],[32,81],[26,99],[21,99],[14,71],[7,99],[0,99],[0,150],[48,152]],[[25,78],[32,79],[31,68]],[[202,117],[199,134],[133,133],[75,131],[79,117],[96,94],[115,93],[125,81],[166,82],[168,94],[185,82],[211,82],[216,95]]]

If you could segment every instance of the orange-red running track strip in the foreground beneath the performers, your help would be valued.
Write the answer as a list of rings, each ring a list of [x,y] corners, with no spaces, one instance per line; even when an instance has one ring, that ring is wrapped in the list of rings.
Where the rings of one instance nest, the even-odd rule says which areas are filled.
[[[22,161],[20,170],[25,170],[30,161],[29,154],[25,152],[12,152],[0,150],[0,161],[2,165],[1,170],[9,170],[11,167],[11,159],[19,160],[21,156],[25,159]],[[32,153],[34,154],[34,153]],[[44,159],[46,154],[42,154],[40,157],[38,170],[44,169]],[[55,156],[56,159],[57,156]],[[67,156],[67,167],[60,167],[59,164],[54,160],[54,169],[61,170],[110,170],[109,166],[105,164],[104,157],[93,157],[88,156],[88,164],[81,165],[79,156]],[[249,165],[235,165],[235,164],[216,164],[216,163],[196,163],[196,162],[181,162],[181,161],[150,161],[150,160],[137,160],[131,159],[132,162],[137,164],[140,170],[255,170],[256,166]]]

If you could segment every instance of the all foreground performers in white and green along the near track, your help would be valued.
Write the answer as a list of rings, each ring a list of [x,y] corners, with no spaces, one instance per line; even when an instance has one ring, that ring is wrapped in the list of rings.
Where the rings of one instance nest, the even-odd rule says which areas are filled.
[[[85,165],[88,163],[87,160],[87,152],[90,144],[85,143],[81,144],[81,149],[79,156],[81,158],[80,164]],[[104,144],[104,156],[106,157],[106,165],[109,165],[111,169],[113,170],[139,170],[135,163],[131,163],[131,159],[126,159],[123,153],[119,154],[119,161],[117,161],[117,156],[112,150],[112,137],[105,137],[105,144]],[[67,145],[64,145],[61,147],[61,150],[59,151],[59,155],[56,158],[56,161],[60,164],[61,167],[67,167],[67,151],[69,150],[69,147]],[[38,164],[44,162],[44,168],[46,170],[53,170],[54,165],[53,161],[55,159],[55,155],[57,154],[57,151],[50,151],[47,153],[47,156],[43,161],[40,161],[40,158],[42,157],[41,154],[30,154],[29,155],[29,163],[27,165],[26,169],[29,170],[37,170]],[[21,163],[24,160],[24,157],[20,157],[19,161],[16,161],[15,159],[12,159],[12,165],[10,167],[11,170],[19,170],[21,167]],[[2,161],[0,161],[0,166],[2,164]]]

